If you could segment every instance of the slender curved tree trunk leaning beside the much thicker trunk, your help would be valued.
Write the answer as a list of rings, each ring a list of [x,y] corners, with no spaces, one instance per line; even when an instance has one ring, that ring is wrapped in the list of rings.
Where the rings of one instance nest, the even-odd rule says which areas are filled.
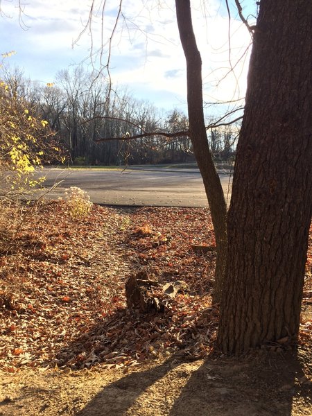
[[[202,103],[202,60],[196,45],[191,20],[191,6],[189,0],[176,0],[177,26],[180,39],[187,60],[187,106],[189,113],[189,132],[193,144],[196,162],[204,182],[207,199],[211,211],[212,223],[216,235],[216,272],[214,285],[214,300],[220,300],[226,261],[227,235],[226,216],[227,207],[216,172],[214,161],[209,150],[205,118]]]

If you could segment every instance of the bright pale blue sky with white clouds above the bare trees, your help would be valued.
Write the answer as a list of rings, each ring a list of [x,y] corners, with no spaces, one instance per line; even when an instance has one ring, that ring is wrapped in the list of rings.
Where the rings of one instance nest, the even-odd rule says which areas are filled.
[[[0,53],[15,51],[6,62],[23,69],[26,77],[45,85],[55,81],[58,71],[81,62],[91,70],[92,53],[94,67],[98,68],[97,52],[103,45],[103,64],[110,50],[113,85],[127,87],[132,96],[158,108],[186,110],[186,64],[173,0],[123,0],[123,15],[110,49],[108,42],[119,1],[105,1],[102,19],[104,1],[94,0],[91,30],[87,26],[91,0],[21,0],[21,14],[18,3],[1,0]],[[241,4],[245,16],[254,24],[254,0]],[[242,98],[250,34],[237,16],[234,1],[229,0],[230,25],[225,0],[193,0],[191,6],[202,55],[204,101]],[[234,71],[226,75],[231,66]],[[211,112],[216,108],[211,107]]]

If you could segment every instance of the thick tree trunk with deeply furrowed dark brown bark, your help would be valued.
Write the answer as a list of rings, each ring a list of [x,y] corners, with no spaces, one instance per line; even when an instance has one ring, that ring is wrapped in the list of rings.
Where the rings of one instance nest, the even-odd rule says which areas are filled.
[[[261,0],[227,219],[223,352],[297,338],[312,210],[311,39],[311,1]]]

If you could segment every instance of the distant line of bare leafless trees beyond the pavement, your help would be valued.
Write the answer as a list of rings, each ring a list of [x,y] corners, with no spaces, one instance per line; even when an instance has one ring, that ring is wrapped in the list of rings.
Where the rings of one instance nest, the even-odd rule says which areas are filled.
[[[157,132],[187,132],[185,114],[164,113],[148,101],[140,101],[126,89],[113,89],[102,76],[94,77],[83,67],[60,71],[55,83],[42,86],[24,77],[15,67],[2,67],[0,79],[12,97],[29,104],[33,114],[49,122],[60,144],[67,149],[70,164],[125,165],[194,162],[188,135],[164,138]],[[114,140],[143,132],[155,135],[135,140]],[[209,129],[208,140],[216,159],[235,153],[237,127]]]

